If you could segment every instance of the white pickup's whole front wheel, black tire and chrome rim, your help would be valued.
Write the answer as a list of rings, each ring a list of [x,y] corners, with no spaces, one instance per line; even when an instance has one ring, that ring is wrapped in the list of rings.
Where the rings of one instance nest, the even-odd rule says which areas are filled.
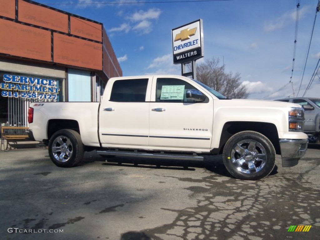
[[[223,163],[237,179],[259,180],[270,174],[276,162],[271,141],[259,132],[238,132],[223,149]]]

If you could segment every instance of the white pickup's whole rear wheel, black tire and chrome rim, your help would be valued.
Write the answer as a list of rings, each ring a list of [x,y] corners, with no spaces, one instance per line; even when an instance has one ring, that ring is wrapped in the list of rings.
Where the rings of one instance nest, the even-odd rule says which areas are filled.
[[[49,156],[58,167],[74,167],[83,158],[80,134],[71,129],[55,132],[49,140]]]

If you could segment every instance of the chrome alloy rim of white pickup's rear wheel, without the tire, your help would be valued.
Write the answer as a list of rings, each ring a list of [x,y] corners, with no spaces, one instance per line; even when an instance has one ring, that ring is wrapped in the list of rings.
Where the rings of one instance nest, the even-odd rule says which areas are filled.
[[[67,162],[72,156],[72,142],[66,136],[58,136],[52,143],[52,155],[59,162]]]

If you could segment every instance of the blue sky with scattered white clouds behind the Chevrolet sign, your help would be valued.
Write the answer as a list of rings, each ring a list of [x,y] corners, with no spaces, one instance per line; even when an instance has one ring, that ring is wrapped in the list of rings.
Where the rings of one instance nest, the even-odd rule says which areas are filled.
[[[247,86],[251,99],[293,97],[289,81],[297,1],[186,1],[36,0],[103,23],[124,76],[180,75],[180,65],[173,64],[171,29],[202,19],[204,58],[197,60],[197,63],[212,57],[219,58],[221,64],[224,62],[227,72],[240,73],[241,82]],[[292,76],[295,96],[303,75],[318,0],[299,2]],[[304,94],[320,58],[319,18],[316,18],[299,97]],[[305,96],[320,97],[319,90],[320,71]]]

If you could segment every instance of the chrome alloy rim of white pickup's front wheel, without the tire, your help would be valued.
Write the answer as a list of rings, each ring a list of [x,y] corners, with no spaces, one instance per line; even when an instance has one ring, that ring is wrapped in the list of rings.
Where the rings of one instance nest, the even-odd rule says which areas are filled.
[[[256,173],[266,165],[267,152],[258,141],[241,140],[232,148],[231,161],[238,172]]]

